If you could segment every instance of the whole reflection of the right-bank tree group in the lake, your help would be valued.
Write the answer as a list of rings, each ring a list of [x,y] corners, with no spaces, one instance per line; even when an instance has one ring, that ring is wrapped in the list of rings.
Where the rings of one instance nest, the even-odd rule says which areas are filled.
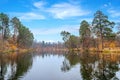
[[[116,72],[120,70],[119,54],[102,54],[84,52],[79,55],[66,55],[61,70],[66,72],[80,64],[80,74],[83,80],[119,80]]]

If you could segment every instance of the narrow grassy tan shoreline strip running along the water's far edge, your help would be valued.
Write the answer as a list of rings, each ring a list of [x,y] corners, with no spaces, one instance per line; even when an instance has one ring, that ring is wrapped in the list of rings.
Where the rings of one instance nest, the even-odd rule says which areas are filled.
[[[12,50],[12,49],[9,49],[9,50],[0,50],[0,53],[26,53],[26,52],[85,52],[85,51],[88,51],[88,52],[95,52],[95,53],[120,53],[120,49],[103,49],[103,50],[96,50],[96,49],[86,49],[86,50],[82,50],[80,48],[78,49],[49,49],[49,50],[46,50],[46,49],[40,49],[40,50],[35,50],[35,49],[18,49],[18,50]]]

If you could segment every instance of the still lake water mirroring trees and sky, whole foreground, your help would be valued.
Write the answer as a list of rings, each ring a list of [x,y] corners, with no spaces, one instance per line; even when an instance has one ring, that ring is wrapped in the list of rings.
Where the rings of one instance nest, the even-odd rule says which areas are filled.
[[[0,80],[120,80],[120,54],[0,54]]]

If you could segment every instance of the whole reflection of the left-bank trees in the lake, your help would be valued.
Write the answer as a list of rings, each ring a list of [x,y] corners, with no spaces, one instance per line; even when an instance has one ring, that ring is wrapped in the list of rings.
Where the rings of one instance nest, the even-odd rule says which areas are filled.
[[[0,54],[0,80],[18,80],[32,65],[32,55]]]

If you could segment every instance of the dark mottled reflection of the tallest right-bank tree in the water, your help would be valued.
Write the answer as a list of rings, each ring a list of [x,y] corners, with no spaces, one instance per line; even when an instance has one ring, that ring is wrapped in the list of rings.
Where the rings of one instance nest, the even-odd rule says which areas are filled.
[[[98,69],[95,71],[95,77],[100,80],[111,80],[116,79],[116,72],[119,70],[119,64],[117,61],[113,61],[112,56],[102,55],[101,60],[98,62]],[[108,60],[110,59],[110,60]]]

